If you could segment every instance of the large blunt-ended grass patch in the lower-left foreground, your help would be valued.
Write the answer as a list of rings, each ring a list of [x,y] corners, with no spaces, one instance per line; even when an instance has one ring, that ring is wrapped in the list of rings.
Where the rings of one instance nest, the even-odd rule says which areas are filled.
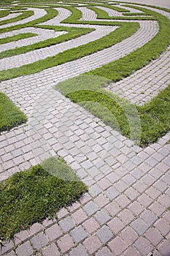
[[[53,157],[15,173],[0,183],[0,239],[12,238],[46,217],[56,217],[56,211],[86,191],[86,185],[63,159]]]

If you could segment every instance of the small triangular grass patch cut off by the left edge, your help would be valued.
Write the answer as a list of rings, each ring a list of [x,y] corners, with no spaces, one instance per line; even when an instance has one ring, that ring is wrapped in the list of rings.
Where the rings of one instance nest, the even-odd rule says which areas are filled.
[[[25,123],[26,116],[0,92],[0,132]]]

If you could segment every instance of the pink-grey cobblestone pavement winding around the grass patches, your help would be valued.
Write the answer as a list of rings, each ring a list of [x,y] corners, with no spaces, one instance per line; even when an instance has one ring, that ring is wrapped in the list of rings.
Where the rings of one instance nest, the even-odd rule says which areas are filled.
[[[58,17],[48,24],[56,25],[69,17],[68,10],[58,9]],[[84,19],[88,9],[83,10]],[[42,15],[41,9],[39,13]],[[38,12],[35,14],[37,18]],[[86,18],[91,15],[88,12]],[[58,154],[89,187],[88,193],[62,208],[53,221],[45,219],[16,234],[1,247],[0,255],[170,255],[170,133],[140,148],[54,89],[62,80],[131,53],[158,33],[156,21],[139,23],[139,31],[117,45],[0,84],[1,91],[28,116],[27,124],[0,135],[1,181]],[[111,31],[112,26],[108,33]],[[168,85],[168,61],[169,48],[157,60],[107,89],[142,105]]]

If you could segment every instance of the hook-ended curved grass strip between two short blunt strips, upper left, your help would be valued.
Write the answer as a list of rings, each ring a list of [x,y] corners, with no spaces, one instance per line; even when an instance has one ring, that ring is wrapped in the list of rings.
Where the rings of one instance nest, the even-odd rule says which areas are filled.
[[[47,11],[47,15],[38,18],[36,20],[31,20],[28,23],[24,23],[24,24],[19,24],[19,25],[15,25],[15,26],[10,26],[4,29],[0,29],[0,33],[5,33],[5,32],[9,32],[9,31],[14,31],[14,30],[18,30],[18,29],[23,29],[23,28],[28,28],[29,26],[35,26],[36,24],[39,23],[43,23],[47,20],[50,20],[52,18],[55,18],[56,15],[58,15],[58,11],[55,9],[45,9]]]

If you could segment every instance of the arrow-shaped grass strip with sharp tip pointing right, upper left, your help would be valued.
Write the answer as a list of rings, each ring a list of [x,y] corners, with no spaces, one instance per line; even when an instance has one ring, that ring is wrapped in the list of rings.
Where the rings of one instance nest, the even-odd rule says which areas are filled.
[[[11,49],[11,50],[5,50],[4,52],[0,53],[0,59],[3,58],[7,58],[7,57],[11,57],[11,56],[15,56],[18,54],[23,54],[23,53],[28,53],[31,50],[37,50],[37,49],[41,49],[41,48],[45,48],[51,45],[56,45],[58,43],[61,42],[66,42],[70,39],[74,39],[77,37],[82,36],[83,34],[88,34],[91,31],[93,31],[93,29],[83,29],[83,28],[70,28],[70,27],[63,27],[63,26],[35,26],[41,29],[53,29],[54,31],[68,31],[68,34],[63,34],[59,37],[56,38],[50,38],[47,39],[45,41],[42,42],[36,42],[33,45],[27,45],[27,46],[23,46],[20,48],[15,48],[15,49]]]

